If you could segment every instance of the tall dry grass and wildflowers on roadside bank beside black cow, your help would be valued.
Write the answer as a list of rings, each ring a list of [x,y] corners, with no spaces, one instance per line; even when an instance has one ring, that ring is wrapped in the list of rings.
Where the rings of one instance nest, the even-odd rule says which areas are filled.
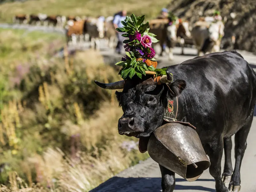
[[[12,34],[2,46],[19,38]],[[122,110],[115,91],[93,82],[121,79],[99,52],[47,60],[42,48],[31,61],[35,52],[30,50],[30,57],[22,58],[30,63],[27,70],[14,62],[8,78],[0,78],[0,164],[6,164],[0,191],[89,191],[148,157],[138,151],[138,139],[118,134]],[[13,84],[16,76],[19,81]]]

